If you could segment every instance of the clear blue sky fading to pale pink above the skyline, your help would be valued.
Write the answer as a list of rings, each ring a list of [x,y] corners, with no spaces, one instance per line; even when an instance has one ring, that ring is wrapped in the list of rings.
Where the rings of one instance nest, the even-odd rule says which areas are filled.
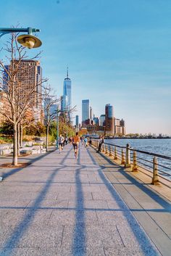
[[[112,104],[127,133],[171,134],[170,0],[1,1],[1,27],[18,23],[41,29],[43,76],[58,95],[69,66],[75,115],[90,99],[96,116]]]

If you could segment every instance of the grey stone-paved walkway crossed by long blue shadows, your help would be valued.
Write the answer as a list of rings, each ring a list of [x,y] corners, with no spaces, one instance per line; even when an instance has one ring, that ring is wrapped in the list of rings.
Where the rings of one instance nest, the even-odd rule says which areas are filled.
[[[119,175],[91,148],[80,145],[75,160],[68,145],[10,172],[0,183],[0,255],[160,255],[110,183],[111,168]]]

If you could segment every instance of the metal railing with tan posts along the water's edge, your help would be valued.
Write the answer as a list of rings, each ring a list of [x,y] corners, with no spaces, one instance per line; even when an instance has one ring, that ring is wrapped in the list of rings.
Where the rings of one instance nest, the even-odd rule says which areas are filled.
[[[92,145],[98,149],[99,141],[93,139]],[[171,186],[171,157],[134,149],[129,144],[119,146],[107,142],[101,145],[101,152],[109,155],[109,157],[114,157],[114,160],[120,161],[120,164],[124,165],[125,168],[132,168],[133,172],[148,171],[150,177],[150,173],[152,174],[151,183],[154,185],[164,183],[163,180],[165,180],[167,186]],[[159,178],[162,179],[159,180]]]

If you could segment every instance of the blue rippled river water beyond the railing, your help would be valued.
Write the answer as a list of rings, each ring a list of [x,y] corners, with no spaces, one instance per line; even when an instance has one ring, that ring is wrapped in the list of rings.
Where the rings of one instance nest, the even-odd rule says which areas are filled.
[[[155,154],[162,154],[167,157],[171,157],[171,139],[107,139],[105,142],[109,144],[115,144],[118,146],[126,146],[126,144],[130,144],[131,147],[134,149],[143,150],[146,152],[151,152]],[[146,155],[146,154],[140,154],[137,153],[138,157],[145,158],[146,160],[149,160],[152,162],[153,157]],[[142,162],[142,165],[145,163],[149,170],[152,168],[152,164],[149,162],[144,162],[143,160],[138,160]],[[167,168],[171,169],[171,160],[164,160],[162,158],[158,158],[159,164],[164,165]],[[159,166],[159,170],[164,171],[165,173],[168,173],[169,176],[166,174],[160,173],[162,176],[165,176],[165,178],[171,178],[171,170],[168,170],[167,168],[163,168]]]

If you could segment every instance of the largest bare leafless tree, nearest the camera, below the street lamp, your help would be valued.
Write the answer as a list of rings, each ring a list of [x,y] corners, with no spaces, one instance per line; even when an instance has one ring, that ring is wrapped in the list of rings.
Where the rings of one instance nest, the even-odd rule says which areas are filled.
[[[17,128],[25,120],[25,114],[29,108],[33,108],[36,94],[41,94],[41,87],[44,81],[38,80],[36,86],[27,86],[29,73],[32,72],[33,66],[23,67],[22,63],[28,60],[25,47],[17,44],[17,34],[12,33],[10,40],[3,49],[7,51],[8,56],[5,61],[10,65],[5,65],[5,61],[0,59],[0,89],[3,94],[4,104],[0,107],[1,115],[9,120],[13,126],[13,160],[12,164],[17,165]],[[40,53],[39,53],[40,54]],[[37,54],[29,60],[36,60]]]

